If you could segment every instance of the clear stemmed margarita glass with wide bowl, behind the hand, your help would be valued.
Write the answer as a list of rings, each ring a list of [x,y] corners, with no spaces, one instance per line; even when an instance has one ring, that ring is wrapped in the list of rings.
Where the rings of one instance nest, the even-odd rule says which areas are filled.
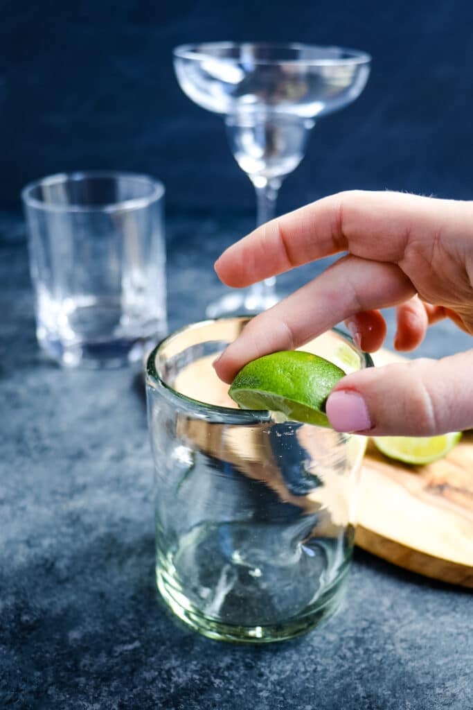
[[[282,180],[297,168],[321,116],[360,96],[369,76],[365,52],[299,43],[211,42],[174,49],[185,94],[225,116],[230,150],[255,186],[257,224],[274,217]],[[255,313],[274,305],[275,279],[233,292],[207,308],[209,317]]]

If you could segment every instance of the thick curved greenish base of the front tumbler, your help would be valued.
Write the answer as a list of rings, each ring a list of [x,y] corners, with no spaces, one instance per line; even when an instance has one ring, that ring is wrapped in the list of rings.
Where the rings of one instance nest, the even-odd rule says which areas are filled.
[[[181,591],[175,589],[172,579],[160,567],[156,568],[156,581],[163,601],[175,616],[207,638],[233,643],[272,643],[296,638],[333,616],[345,596],[349,572],[350,561],[347,561],[342,572],[306,613],[267,626],[237,626],[208,618]]]

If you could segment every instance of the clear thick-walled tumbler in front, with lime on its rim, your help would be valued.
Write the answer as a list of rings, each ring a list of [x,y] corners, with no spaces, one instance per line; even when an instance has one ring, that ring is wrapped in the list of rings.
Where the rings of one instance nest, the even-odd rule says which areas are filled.
[[[186,327],[150,354],[156,575],[204,635],[291,638],[337,608],[352,557],[365,438],[239,410],[211,363],[247,318]],[[340,332],[304,349],[346,372],[369,356]]]

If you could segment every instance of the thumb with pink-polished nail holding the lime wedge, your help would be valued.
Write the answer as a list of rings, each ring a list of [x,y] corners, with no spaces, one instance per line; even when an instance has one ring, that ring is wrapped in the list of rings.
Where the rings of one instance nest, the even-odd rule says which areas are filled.
[[[352,373],[325,405],[338,432],[430,437],[473,427],[473,350]]]

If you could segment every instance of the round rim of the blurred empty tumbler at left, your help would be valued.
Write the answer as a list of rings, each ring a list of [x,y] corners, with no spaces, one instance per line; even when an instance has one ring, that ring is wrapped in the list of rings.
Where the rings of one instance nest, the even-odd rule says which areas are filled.
[[[81,182],[82,180],[99,180],[104,178],[108,178],[109,180],[128,178],[128,180],[135,180],[135,182],[146,182],[148,185],[151,185],[152,190],[150,195],[130,197],[128,200],[104,204],[59,204],[38,200],[37,197],[33,197],[31,194],[33,190],[43,185],[60,185],[65,182]],[[38,180],[28,182],[21,190],[21,200],[23,200],[26,207],[43,209],[45,212],[123,212],[123,210],[141,209],[148,207],[152,202],[159,202],[162,200],[162,197],[164,197],[165,192],[165,185],[160,180],[152,178],[151,175],[145,175],[144,173],[130,173],[126,170],[74,170],[72,173],[45,175],[44,178],[38,178]]]

